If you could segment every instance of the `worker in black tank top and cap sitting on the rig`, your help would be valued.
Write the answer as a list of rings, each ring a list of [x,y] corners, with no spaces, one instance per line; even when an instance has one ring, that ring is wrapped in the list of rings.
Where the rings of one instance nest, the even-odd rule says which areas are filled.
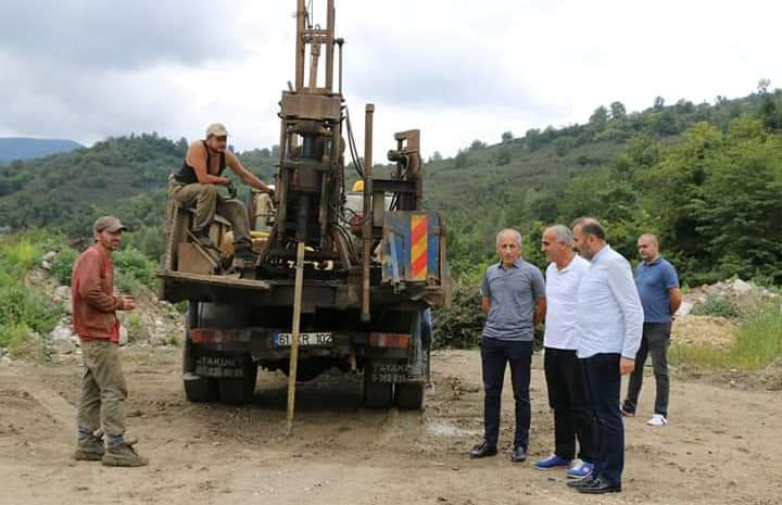
[[[226,149],[227,143],[226,127],[220,123],[210,125],[206,139],[190,144],[181,168],[169,178],[168,195],[180,205],[195,211],[192,231],[207,248],[214,248],[209,227],[215,213],[228,219],[234,232],[236,257],[250,261],[253,254],[247,211],[239,200],[217,192],[219,186],[231,185],[223,172],[229,167],[249,186],[268,193],[272,190],[242,166],[239,159]]]

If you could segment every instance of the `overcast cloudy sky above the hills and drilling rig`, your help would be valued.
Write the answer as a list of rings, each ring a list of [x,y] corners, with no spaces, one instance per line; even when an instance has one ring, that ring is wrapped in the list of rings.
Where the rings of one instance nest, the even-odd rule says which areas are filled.
[[[316,21],[325,0],[314,0]],[[503,131],[584,123],[601,104],[656,96],[714,102],[782,87],[768,0],[337,0],[344,93],[363,150],[420,128],[425,155]],[[223,122],[237,150],[278,141],[293,80],[295,0],[3,1],[0,137],[157,131],[201,138]],[[377,160],[377,156],[376,156]],[[377,160],[379,161],[379,160]]]

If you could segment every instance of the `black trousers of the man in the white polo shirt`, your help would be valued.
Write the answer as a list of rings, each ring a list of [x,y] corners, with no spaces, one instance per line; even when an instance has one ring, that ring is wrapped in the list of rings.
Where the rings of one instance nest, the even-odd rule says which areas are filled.
[[[575,350],[545,348],[543,367],[548,389],[548,405],[554,409],[554,454],[565,459],[576,456],[594,463],[593,422],[581,361]]]

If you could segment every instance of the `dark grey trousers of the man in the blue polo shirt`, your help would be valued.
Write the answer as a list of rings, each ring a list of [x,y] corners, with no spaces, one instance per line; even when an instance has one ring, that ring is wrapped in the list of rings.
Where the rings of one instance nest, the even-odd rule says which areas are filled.
[[[670,342],[670,323],[644,323],[643,337],[638,354],[635,354],[635,368],[630,375],[628,395],[625,399],[625,411],[635,413],[638,397],[643,384],[643,368],[646,356],[652,354],[652,368],[654,370],[655,414],[668,417],[668,396],[670,382],[668,379],[668,343]]]

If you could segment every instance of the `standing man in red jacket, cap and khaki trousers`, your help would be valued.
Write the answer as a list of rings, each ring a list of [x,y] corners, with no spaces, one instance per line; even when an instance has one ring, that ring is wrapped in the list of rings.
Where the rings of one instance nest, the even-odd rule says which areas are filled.
[[[77,460],[102,460],[106,466],[144,466],[149,462],[125,441],[123,402],[127,386],[119,362],[116,311],[133,311],[133,296],[114,295],[111,255],[119,247],[125,226],[114,216],[96,220],[94,244],[76,260],[71,280],[74,330],[85,365],[78,406]],[[102,430],[101,430],[102,426]],[[102,433],[108,440],[103,447]]]

